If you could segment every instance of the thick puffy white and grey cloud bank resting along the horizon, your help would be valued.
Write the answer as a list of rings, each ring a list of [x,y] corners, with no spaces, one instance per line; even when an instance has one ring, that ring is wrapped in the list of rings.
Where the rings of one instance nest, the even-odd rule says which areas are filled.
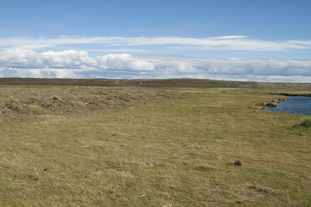
[[[236,37],[239,38],[239,37]],[[223,37],[222,40],[232,39]],[[0,52],[0,77],[166,79],[204,78],[264,82],[311,82],[311,60],[222,59],[108,54],[86,51]]]

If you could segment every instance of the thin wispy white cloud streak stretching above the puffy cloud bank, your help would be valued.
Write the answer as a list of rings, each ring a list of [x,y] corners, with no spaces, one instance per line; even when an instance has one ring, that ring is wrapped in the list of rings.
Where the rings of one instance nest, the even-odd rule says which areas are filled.
[[[311,49],[311,40],[297,41],[263,41],[251,39],[247,36],[222,36],[209,38],[184,38],[184,37],[79,37],[79,36],[60,36],[57,38],[28,38],[11,37],[0,39],[0,48],[38,50],[46,48],[59,48],[64,45],[81,45],[83,48],[95,50],[95,45],[111,47],[111,50],[118,50],[118,47],[127,50],[141,50],[137,48],[143,46],[162,46],[173,50],[178,48],[195,50],[227,50],[227,51],[290,51]],[[167,47],[170,46],[170,47]],[[174,46],[174,47],[172,47]],[[93,47],[93,48],[92,48]],[[148,51],[148,50],[147,50]]]

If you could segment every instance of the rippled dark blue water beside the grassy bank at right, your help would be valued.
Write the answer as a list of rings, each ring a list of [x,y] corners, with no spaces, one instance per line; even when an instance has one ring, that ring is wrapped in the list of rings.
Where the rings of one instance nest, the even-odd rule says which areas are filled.
[[[289,96],[289,98],[291,100],[281,101],[277,107],[268,108],[266,111],[311,115],[311,97]]]

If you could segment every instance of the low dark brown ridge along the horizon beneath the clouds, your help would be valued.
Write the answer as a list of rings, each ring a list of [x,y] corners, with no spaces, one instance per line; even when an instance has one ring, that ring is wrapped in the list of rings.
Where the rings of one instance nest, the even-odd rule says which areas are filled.
[[[0,85],[77,85],[114,87],[199,87],[199,88],[258,88],[311,91],[311,83],[249,82],[209,79],[70,79],[70,78],[0,78]]]

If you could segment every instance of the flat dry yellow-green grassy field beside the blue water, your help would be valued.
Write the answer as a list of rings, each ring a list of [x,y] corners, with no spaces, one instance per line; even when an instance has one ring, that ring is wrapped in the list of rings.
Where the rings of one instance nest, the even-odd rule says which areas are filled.
[[[0,206],[311,207],[311,116],[277,93],[2,85]]]

